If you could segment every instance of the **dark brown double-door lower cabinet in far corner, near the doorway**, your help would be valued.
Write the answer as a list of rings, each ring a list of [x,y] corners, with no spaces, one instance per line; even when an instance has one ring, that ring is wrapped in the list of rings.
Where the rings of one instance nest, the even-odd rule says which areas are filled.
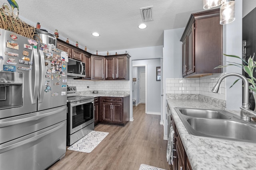
[[[129,99],[130,96],[123,98],[101,97],[100,123],[126,125],[130,114]]]

